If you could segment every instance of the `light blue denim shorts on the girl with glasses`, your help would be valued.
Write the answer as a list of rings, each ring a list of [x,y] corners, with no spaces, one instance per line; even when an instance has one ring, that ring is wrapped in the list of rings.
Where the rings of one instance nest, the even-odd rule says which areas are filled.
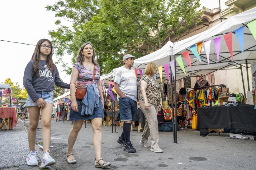
[[[53,91],[50,92],[36,92],[36,94],[45,100],[46,103],[51,103],[53,104]],[[36,101],[32,101],[31,97],[28,95],[27,96],[27,101],[25,106],[37,106]]]

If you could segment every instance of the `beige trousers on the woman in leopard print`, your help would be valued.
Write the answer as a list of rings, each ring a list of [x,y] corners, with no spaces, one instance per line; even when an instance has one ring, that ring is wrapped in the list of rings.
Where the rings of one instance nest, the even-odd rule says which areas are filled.
[[[140,109],[146,117],[145,127],[142,133],[142,143],[147,143],[150,135],[151,138],[151,148],[159,147],[157,142],[159,140],[158,136],[158,121],[157,121],[157,113],[158,106],[151,105],[149,103],[149,110],[145,110],[145,102],[140,100]]]

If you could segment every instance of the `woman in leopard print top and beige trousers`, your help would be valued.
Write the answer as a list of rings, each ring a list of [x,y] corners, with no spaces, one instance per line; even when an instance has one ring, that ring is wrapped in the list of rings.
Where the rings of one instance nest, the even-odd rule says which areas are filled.
[[[151,136],[151,151],[162,153],[158,143],[158,121],[157,113],[161,110],[159,85],[154,80],[157,68],[155,63],[148,63],[142,78],[140,79],[140,108],[146,117],[146,123],[140,143],[145,147],[150,147],[147,143]]]

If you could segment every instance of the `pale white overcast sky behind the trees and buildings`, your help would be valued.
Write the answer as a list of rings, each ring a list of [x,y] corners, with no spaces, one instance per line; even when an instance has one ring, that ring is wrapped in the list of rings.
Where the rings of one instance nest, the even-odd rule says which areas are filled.
[[[225,1],[227,0],[220,1],[221,9],[226,8]],[[42,38],[50,39],[48,31],[58,28],[54,23],[60,18],[56,18],[54,12],[46,11],[45,6],[55,2],[56,0],[0,1],[0,40],[36,44]],[[213,9],[219,7],[219,0],[201,0],[201,6]],[[70,26],[67,21],[62,20],[62,24]],[[11,78],[12,82],[18,82],[22,87],[24,70],[34,49],[35,46],[0,41],[0,83]],[[70,66],[71,57],[63,57],[64,62]],[[53,61],[57,61],[56,56],[53,56]],[[57,64],[57,68],[60,78],[69,83],[70,76],[62,72],[63,67]]]

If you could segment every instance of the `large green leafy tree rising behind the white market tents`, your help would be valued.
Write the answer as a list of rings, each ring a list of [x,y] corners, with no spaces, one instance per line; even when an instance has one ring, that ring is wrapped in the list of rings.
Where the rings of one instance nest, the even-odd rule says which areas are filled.
[[[56,17],[72,22],[49,31],[56,54],[67,74],[71,68],[63,62],[65,52],[74,63],[79,47],[91,42],[103,73],[122,65],[122,56],[141,57],[156,51],[168,41],[201,21],[200,0],[60,0],[46,7]]]

